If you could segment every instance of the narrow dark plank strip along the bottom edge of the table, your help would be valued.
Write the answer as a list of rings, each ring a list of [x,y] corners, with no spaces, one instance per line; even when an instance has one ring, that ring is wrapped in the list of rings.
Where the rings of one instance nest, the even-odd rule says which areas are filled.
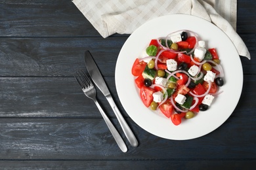
[[[2,169],[253,169],[255,160],[0,161]]]

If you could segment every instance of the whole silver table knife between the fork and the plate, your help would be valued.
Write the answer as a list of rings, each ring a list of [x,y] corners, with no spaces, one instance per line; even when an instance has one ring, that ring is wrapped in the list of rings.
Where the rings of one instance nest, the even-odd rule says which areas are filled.
[[[125,122],[125,119],[121,115],[121,112],[118,110],[116,103],[114,102],[110,94],[110,91],[106,86],[106,82],[104,81],[104,78],[102,77],[100,70],[98,69],[95,63],[95,60],[93,59],[93,56],[88,50],[85,52],[85,66],[87,67],[87,71],[91,76],[91,78],[93,79],[93,82],[95,82],[96,86],[100,89],[100,91],[104,94],[104,96],[108,100],[108,103],[110,103],[110,106],[112,107],[114,113],[116,114],[117,120],[121,125],[121,128],[123,129],[123,132],[125,133],[125,136],[127,137],[129,143],[131,144],[131,146],[134,146],[134,147],[138,146],[139,143],[135,135],[133,134],[133,131],[131,131],[127,122]]]

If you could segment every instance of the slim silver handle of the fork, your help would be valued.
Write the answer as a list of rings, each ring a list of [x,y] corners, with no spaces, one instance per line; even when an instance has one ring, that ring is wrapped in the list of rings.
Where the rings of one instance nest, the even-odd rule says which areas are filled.
[[[114,127],[114,125],[112,124],[112,122],[110,121],[106,113],[104,112],[104,110],[100,107],[100,104],[98,103],[98,101],[96,101],[96,99],[93,99],[93,100],[95,101],[95,104],[98,107],[98,110],[100,110],[100,113],[103,119],[105,120],[108,126],[108,129],[110,129],[110,132],[112,133],[114,139],[116,140],[117,145],[119,146],[121,151],[127,152],[127,146],[123,141],[123,139],[121,138],[121,136],[119,135],[118,131],[116,130],[116,127]]]

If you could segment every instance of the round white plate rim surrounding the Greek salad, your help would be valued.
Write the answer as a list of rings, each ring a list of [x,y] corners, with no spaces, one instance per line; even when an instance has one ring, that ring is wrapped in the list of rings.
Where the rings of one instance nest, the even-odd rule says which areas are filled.
[[[200,111],[194,118],[183,120],[179,126],[175,126],[163,114],[144,106],[131,68],[151,39],[164,37],[181,29],[194,31],[206,42],[208,48],[217,48],[224,69],[224,86],[220,88],[223,93],[215,98],[208,110]],[[221,126],[234,111],[243,85],[242,63],[232,41],[210,22],[186,14],[161,16],[134,31],[121,48],[115,78],[121,104],[133,121],[149,133],[173,140],[202,137]]]

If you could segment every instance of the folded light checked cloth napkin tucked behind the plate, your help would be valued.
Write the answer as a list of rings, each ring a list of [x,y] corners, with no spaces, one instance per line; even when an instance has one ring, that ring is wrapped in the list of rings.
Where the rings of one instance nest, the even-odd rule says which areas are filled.
[[[114,33],[133,33],[158,16],[178,13],[198,16],[222,29],[238,54],[251,59],[236,33],[236,0],[73,0],[73,3],[104,38]]]

